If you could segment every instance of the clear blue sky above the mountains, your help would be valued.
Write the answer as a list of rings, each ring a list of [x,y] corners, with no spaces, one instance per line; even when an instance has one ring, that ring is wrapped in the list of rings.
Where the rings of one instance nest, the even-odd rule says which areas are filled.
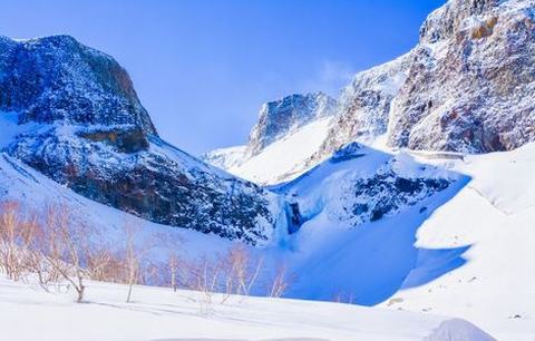
[[[71,35],[130,74],[160,135],[242,144],[262,103],[323,90],[405,53],[445,0],[2,0],[0,33]]]

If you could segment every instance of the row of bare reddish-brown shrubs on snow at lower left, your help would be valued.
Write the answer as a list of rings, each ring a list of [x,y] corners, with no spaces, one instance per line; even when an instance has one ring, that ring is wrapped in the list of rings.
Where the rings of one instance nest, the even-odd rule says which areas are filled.
[[[37,277],[47,291],[52,283],[67,282],[76,290],[78,302],[84,301],[89,279],[126,284],[126,302],[132,301],[136,284],[195,290],[204,311],[212,305],[215,293],[224,304],[234,295],[251,295],[253,289],[256,292],[261,275],[265,281],[263,259],[245,245],[188,261],[181,254],[182,240],[168,235],[147,238],[138,220],[127,220],[121,243],[110,244],[106,235],[85,224],[66,205],[25,212],[18,203],[0,203],[0,270],[16,281],[25,274],[29,274],[25,279]],[[156,245],[167,254],[160,263],[152,263],[154,259],[148,257]],[[269,281],[266,294],[280,298],[292,277],[280,266]]]

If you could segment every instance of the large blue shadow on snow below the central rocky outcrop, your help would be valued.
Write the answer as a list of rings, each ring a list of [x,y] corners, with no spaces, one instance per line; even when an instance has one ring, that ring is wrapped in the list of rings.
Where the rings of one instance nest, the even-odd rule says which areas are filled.
[[[314,251],[293,264],[299,279],[286,296],[376,305],[400,289],[424,285],[466,264],[463,255],[471,245],[441,250],[415,246],[419,227],[471,181],[466,175],[456,175],[457,179],[446,189],[400,214],[350,231],[303,225],[292,236],[292,243],[298,249]],[[313,240],[313,233],[308,235],[309,228],[315,231],[313,233],[323,228],[332,233]]]

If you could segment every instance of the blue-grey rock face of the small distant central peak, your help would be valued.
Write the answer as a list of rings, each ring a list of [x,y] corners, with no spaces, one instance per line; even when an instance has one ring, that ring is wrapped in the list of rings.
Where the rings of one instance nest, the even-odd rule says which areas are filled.
[[[266,103],[251,131],[245,155],[254,156],[290,131],[314,119],[335,115],[335,111],[337,100],[322,92],[291,95]]]

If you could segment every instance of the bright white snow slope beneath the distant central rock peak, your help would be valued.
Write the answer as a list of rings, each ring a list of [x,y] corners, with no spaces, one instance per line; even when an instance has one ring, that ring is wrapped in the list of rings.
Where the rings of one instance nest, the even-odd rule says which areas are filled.
[[[302,173],[307,159],[319,149],[334,119],[314,120],[227,170],[259,184],[275,184],[292,178]]]

